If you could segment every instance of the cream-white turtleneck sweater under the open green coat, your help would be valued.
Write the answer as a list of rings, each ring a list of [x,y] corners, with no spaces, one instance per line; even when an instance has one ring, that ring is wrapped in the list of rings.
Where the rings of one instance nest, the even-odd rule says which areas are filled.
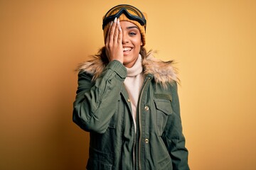
[[[132,116],[135,125],[136,132],[136,117],[137,117],[137,104],[139,100],[139,94],[142,89],[142,84],[144,81],[144,74],[142,68],[142,56],[139,55],[137,61],[134,63],[133,67],[127,68],[127,77],[124,79],[124,86],[129,94],[129,99],[132,104]]]

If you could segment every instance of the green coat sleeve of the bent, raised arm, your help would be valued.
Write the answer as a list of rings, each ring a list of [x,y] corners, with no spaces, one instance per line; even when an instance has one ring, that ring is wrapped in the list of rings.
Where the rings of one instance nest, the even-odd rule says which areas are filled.
[[[88,132],[104,133],[116,111],[127,69],[121,62],[107,64],[92,83],[86,72],[78,74],[78,91],[73,103],[73,122]]]

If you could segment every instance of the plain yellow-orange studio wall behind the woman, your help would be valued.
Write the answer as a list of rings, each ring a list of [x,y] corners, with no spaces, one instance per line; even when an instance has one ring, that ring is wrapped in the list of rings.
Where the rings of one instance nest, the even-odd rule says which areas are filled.
[[[0,169],[85,169],[72,122],[78,63],[117,4],[148,14],[146,48],[176,60],[191,169],[255,169],[256,1],[0,1]]]

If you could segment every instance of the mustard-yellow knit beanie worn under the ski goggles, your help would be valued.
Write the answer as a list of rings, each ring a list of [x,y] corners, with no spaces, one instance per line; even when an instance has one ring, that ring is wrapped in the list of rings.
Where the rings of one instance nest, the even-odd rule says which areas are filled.
[[[127,12],[134,15],[134,16],[137,16],[137,13],[135,13],[134,11],[130,10],[129,8],[126,8]],[[116,13],[119,12],[119,9],[115,10],[115,11],[112,11],[110,14],[111,15],[114,15]],[[144,15],[144,18],[145,20],[147,19],[147,16],[146,16],[146,13],[143,13]],[[105,16],[103,16],[103,20],[105,19]],[[129,21],[131,23],[134,23],[134,25],[136,25],[138,28],[139,28],[139,31],[142,35],[142,46],[144,46],[146,44],[146,24],[144,24],[144,26],[142,26],[138,21],[135,21],[135,20],[132,20],[132,19],[129,19],[127,18],[127,16],[122,13],[120,16],[119,16],[119,21]],[[104,40],[106,42],[106,38],[107,38],[107,31],[108,29],[110,28],[110,22],[107,23],[103,29],[103,33],[104,33]]]

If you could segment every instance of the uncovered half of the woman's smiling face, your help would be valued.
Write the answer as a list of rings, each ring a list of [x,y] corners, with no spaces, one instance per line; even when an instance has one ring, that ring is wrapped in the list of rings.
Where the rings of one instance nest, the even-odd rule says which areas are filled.
[[[124,52],[124,66],[130,68],[139,57],[139,51],[142,45],[142,38],[139,28],[129,21],[121,21],[122,28],[122,46]]]

